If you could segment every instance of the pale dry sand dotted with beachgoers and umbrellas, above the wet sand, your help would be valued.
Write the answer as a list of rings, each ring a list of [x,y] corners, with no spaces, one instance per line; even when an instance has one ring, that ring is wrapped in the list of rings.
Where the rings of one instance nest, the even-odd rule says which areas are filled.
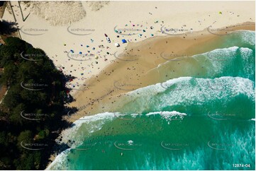
[[[55,63],[55,66],[64,67],[62,69],[64,73],[77,77],[69,85],[74,86],[74,88],[79,88],[79,85],[82,85],[87,78],[96,75],[113,62],[113,59],[116,59],[111,54],[116,51],[118,53],[123,51],[127,45],[122,44],[121,40],[123,38],[135,42],[151,37],[150,34],[165,36],[160,32],[162,25],[167,28],[197,31],[204,30],[210,25],[213,25],[214,28],[222,28],[226,25],[247,21],[255,22],[254,1],[111,1],[101,4],[82,1],[82,6],[77,8],[65,8],[64,6],[67,5],[41,7],[40,16],[44,16],[43,18],[47,18],[47,20],[37,16],[34,12],[30,13],[25,22],[21,17],[18,3],[16,1],[11,3],[14,6],[13,10],[16,14],[17,23],[22,28],[21,30],[41,29],[41,31],[21,32],[22,39],[34,47],[43,49]],[[77,5],[79,6],[79,4]],[[22,8],[24,9],[25,6],[22,5]],[[24,17],[28,15],[29,10],[31,10],[31,6],[23,11]],[[65,13],[67,18],[74,18],[74,20],[62,18],[59,12],[63,13],[63,11],[67,12]],[[219,11],[222,14],[219,14]],[[56,16],[51,16],[52,13]],[[77,16],[79,17],[77,18]],[[8,12],[4,13],[3,19],[14,20]],[[76,20],[78,21],[74,22]],[[155,23],[157,20],[158,23]],[[69,31],[74,28],[87,29],[90,31],[73,31],[73,33],[91,34],[73,35],[67,31],[69,23],[71,23]],[[126,24],[127,26],[125,26]],[[136,34],[120,35],[118,38],[116,37],[118,34],[114,32],[116,25],[117,28],[137,28],[146,32],[140,31],[143,34],[141,37]],[[150,29],[150,26],[153,28]],[[42,35],[27,35],[25,33]],[[104,33],[110,37],[111,43],[106,41]],[[94,41],[91,42],[91,39]],[[101,42],[101,40],[104,41]],[[115,42],[118,42],[121,47],[115,47]],[[88,48],[87,45],[89,45]],[[99,45],[104,45],[104,48],[99,48]],[[95,50],[92,49],[93,47],[95,47]],[[65,51],[69,52],[70,49],[74,50],[74,54],[82,52],[82,54],[94,54],[95,56],[91,57],[89,61],[75,61],[69,59],[67,53],[65,53]],[[87,50],[90,52],[88,53]],[[106,52],[110,54],[106,54]],[[99,57],[99,59],[95,59],[95,57]],[[86,58],[89,59],[89,57]],[[96,64],[96,61],[98,64]],[[72,93],[74,93],[74,90],[72,90]]]

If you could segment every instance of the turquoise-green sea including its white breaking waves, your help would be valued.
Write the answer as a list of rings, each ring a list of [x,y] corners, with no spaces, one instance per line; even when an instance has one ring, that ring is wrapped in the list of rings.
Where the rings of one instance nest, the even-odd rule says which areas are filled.
[[[255,170],[255,32],[221,39],[187,59],[200,76],[182,65],[184,76],[128,93],[118,111],[74,122],[48,169]]]

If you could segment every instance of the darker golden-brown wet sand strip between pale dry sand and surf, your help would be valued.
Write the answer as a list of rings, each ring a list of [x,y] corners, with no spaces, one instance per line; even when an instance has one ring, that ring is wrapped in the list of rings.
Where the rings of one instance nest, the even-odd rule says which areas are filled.
[[[213,28],[211,29],[213,30]],[[220,35],[234,30],[255,30],[255,23],[230,25],[209,33],[206,28],[201,32],[183,35],[167,35],[165,37],[151,37],[142,42],[129,42],[126,50],[112,54],[116,57],[113,64],[108,65],[99,75],[87,80],[86,86],[80,87],[74,95],[75,101],[70,107],[77,107],[75,114],[66,117],[74,122],[80,117],[101,112],[118,112],[118,98],[131,90],[143,88],[155,83],[177,78],[180,74],[165,76],[157,71],[157,66],[169,61],[175,62],[174,69],[182,69],[182,65],[175,58],[187,58],[194,54],[202,54],[213,49],[221,48],[218,41]],[[216,43],[217,42],[217,43]],[[118,55],[119,54],[119,55]],[[187,62],[190,62],[189,59]],[[204,70],[202,70],[204,71]],[[200,76],[200,71],[197,73]]]

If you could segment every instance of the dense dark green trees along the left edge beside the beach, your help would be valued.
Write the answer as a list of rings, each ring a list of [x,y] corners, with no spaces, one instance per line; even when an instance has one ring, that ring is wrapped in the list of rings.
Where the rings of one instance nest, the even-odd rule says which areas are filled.
[[[8,93],[0,105],[0,170],[43,170],[62,120],[65,76],[42,49],[17,37],[0,46],[0,82]]]

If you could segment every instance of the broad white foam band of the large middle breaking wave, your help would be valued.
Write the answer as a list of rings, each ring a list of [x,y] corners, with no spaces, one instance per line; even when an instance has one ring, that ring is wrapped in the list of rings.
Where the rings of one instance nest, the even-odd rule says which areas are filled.
[[[184,84],[189,86],[183,86]],[[169,85],[178,86],[179,88],[173,90]],[[194,105],[194,102],[197,105],[204,105],[212,100],[228,102],[230,99],[241,94],[251,100],[255,100],[254,82],[247,78],[231,76],[214,79],[174,78],[165,83],[157,83],[145,88],[139,88],[128,94],[130,101],[133,100],[135,104],[140,105],[140,108],[136,111],[138,113],[144,112],[145,109],[160,111],[164,107],[172,105]]]

